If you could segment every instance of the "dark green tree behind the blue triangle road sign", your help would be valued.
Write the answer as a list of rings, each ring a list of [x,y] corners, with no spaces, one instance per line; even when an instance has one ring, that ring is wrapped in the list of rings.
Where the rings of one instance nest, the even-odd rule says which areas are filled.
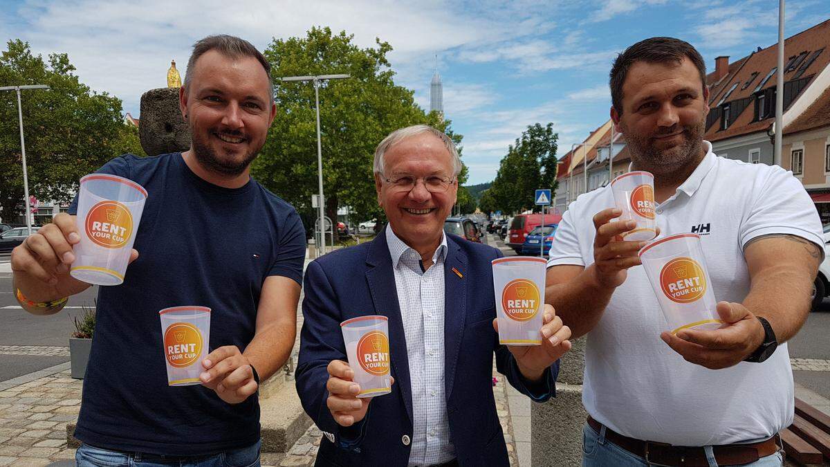
[[[536,189],[555,190],[558,139],[553,123],[528,125],[508,148],[496,179],[486,191],[486,197],[482,197],[487,207],[517,213],[535,207]]]

